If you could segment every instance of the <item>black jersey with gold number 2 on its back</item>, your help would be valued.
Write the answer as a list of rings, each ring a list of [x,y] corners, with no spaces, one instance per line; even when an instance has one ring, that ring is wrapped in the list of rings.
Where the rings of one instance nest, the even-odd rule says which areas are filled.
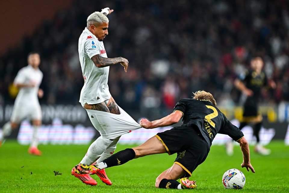
[[[217,133],[227,134],[235,141],[244,137],[242,131],[208,100],[181,99],[174,111],[183,113],[182,126],[197,127],[210,146]]]

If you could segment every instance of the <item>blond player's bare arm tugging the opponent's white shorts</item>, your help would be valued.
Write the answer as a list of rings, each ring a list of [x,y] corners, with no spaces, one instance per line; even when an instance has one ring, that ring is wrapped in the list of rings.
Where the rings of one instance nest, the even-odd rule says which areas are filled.
[[[158,119],[155,121],[148,121],[148,119],[141,119],[139,122],[139,125],[141,125],[141,127],[146,128],[146,129],[153,129],[153,128],[157,128],[157,127],[165,127],[165,126],[169,126],[169,125],[173,125],[177,122],[179,122],[179,120],[182,118],[183,113],[180,111],[175,111],[172,114],[163,117],[162,119]]]

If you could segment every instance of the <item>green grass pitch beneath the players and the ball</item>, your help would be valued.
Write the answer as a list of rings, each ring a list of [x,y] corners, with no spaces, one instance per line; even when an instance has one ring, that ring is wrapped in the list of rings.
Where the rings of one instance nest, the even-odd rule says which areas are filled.
[[[8,140],[0,148],[0,192],[288,192],[289,147],[283,141],[272,141],[267,147],[269,156],[261,156],[251,150],[251,163],[255,174],[241,168],[242,154],[235,146],[235,154],[228,157],[224,146],[212,146],[207,160],[193,172],[191,180],[197,180],[193,190],[166,190],[154,187],[157,176],[169,168],[175,155],[167,154],[141,157],[128,163],[106,169],[113,185],[103,184],[93,176],[98,185],[89,186],[71,176],[71,169],[84,156],[89,145],[40,145],[43,155],[27,153],[28,146]],[[118,145],[117,150],[132,147]],[[246,176],[242,190],[226,190],[221,183],[224,172],[231,168],[241,169]],[[54,176],[53,171],[62,175]],[[32,172],[32,174],[31,174]]]

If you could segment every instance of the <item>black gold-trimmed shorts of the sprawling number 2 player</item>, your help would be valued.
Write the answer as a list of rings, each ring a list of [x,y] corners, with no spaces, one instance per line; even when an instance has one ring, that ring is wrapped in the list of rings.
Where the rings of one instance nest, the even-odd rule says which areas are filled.
[[[189,177],[198,165],[203,163],[210,151],[198,128],[180,126],[156,134],[169,155],[177,153],[174,163],[181,166]]]

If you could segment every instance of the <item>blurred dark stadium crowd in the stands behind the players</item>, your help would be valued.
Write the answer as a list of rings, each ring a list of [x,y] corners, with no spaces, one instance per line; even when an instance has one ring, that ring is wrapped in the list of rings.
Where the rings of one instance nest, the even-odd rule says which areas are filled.
[[[41,55],[44,97],[40,103],[79,104],[83,86],[78,38],[93,11],[110,7],[109,58],[129,60],[110,68],[109,87],[124,109],[151,117],[170,113],[180,98],[206,90],[218,105],[239,103],[234,80],[253,56],[277,84],[264,90],[262,103],[289,101],[289,2],[276,1],[75,1],[53,20],[44,21],[0,58],[0,104],[11,104],[9,87],[27,65],[30,51]]]

